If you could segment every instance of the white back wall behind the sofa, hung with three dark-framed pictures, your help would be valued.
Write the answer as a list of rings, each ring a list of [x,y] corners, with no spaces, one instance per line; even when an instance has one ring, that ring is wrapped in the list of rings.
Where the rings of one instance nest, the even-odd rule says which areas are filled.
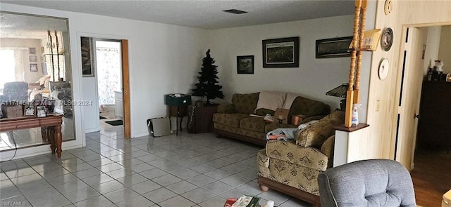
[[[353,21],[354,15],[345,15],[214,30],[211,56],[218,65],[219,84],[226,95],[216,102],[230,102],[233,93],[269,90],[298,93],[326,102],[331,109],[339,108],[341,98],[326,92],[347,83],[350,58],[316,59],[316,40],[352,36]],[[263,68],[261,41],[291,36],[300,39],[299,67]],[[254,55],[254,74],[237,74],[237,55]]]

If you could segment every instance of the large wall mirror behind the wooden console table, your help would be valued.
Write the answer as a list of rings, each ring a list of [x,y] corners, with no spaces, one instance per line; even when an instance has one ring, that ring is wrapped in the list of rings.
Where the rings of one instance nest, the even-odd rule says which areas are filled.
[[[68,19],[0,12],[0,101],[5,105],[11,97],[6,95],[11,90],[8,87],[13,85],[8,84],[11,82],[17,83],[13,90],[24,94],[18,102],[23,105],[23,116],[37,116],[41,111],[35,107],[33,113],[27,106],[37,100],[48,100],[54,107],[47,113],[63,114],[63,142],[75,140],[69,52]],[[29,114],[25,109],[30,109]],[[5,117],[0,117],[0,121],[26,119],[19,113],[10,113],[13,117],[5,112],[0,116],[2,114]],[[0,151],[49,145],[44,131],[45,128],[39,127],[1,132]]]

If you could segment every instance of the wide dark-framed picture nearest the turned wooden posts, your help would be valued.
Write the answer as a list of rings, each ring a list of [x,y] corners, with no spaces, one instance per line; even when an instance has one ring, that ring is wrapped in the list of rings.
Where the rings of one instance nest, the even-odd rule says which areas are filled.
[[[350,57],[350,45],[352,36],[317,39],[316,40],[316,58],[342,58]]]

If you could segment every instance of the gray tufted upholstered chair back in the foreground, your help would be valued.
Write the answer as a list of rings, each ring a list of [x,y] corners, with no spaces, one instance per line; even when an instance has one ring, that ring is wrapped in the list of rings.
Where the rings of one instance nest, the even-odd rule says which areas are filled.
[[[416,206],[412,178],[389,159],[355,161],[319,174],[321,206]]]

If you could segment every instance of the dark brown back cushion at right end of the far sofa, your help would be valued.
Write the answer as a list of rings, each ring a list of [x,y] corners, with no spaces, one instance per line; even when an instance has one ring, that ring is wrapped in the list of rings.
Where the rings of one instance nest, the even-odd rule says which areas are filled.
[[[302,114],[305,116],[316,116],[327,114],[328,105],[317,100],[311,100],[298,96],[290,107],[290,114]]]

